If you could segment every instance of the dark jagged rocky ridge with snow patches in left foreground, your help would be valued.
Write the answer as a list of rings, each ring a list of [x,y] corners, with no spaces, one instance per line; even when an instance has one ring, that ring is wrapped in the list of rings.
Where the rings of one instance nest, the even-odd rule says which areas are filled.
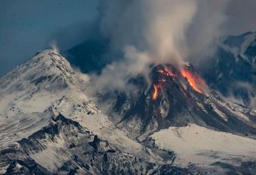
[[[18,143],[0,153],[7,174],[146,174],[154,168],[62,115]]]

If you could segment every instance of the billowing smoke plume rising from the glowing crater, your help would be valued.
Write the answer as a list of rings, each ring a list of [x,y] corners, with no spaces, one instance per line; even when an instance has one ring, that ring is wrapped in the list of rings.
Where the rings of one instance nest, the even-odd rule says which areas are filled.
[[[139,73],[147,77],[151,64],[180,66],[203,55],[225,19],[226,2],[215,2],[211,9],[211,0],[102,1],[102,35],[110,39],[111,51],[124,58],[92,76],[93,89],[132,90],[128,80]]]

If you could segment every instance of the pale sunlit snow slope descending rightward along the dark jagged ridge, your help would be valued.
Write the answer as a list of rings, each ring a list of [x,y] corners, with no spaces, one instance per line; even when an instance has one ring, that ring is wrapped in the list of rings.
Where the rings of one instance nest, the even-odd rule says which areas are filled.
[[[154,153],[150,153],[151,156],[148,156],[148,149],[133,139],[129,139],[125,132],[116,128],[91,100],[85,100],[85,95],[63,96],[50,108],[56,115],[63,113],[69,119],[79,122],[83,127],[88,128],[93,133],[101,136],[102,139],[108,140],[122,150],[145,156],[146,159],[152,159],[153,157],[160,159]]]

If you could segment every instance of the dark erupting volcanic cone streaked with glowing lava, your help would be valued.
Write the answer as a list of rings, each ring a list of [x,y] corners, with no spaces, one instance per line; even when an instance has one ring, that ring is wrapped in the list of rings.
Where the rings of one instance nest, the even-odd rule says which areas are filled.
[[[111,104],[106,113],[114,124],[132,137],[145,139],[159,129],[190,123],[218,131],[256,133],[252,125],[210,92],[192,65],[155,65],[150,78],[149,87],[142,76],[131,79],[139,89],[136,96],[119,92],[99,97],[99,104]],[[252,118],[250,113],[243,115]]]

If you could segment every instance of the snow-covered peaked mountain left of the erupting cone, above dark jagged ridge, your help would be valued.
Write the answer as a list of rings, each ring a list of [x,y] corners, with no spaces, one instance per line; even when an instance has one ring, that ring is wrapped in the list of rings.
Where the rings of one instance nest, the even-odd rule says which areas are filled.
[[[85,120],[82,123],[93,131],[102,127],[114,130],[106,116],[79,90],[79,81],[68,61],[58,53],[45,50],[37,54],[0,79],[2,123],[20,122],[26,128],[36,123],[21,123],[23,120],[36,119],[36,115],[49,119],[48,111],[54,110],[80,122]]]

